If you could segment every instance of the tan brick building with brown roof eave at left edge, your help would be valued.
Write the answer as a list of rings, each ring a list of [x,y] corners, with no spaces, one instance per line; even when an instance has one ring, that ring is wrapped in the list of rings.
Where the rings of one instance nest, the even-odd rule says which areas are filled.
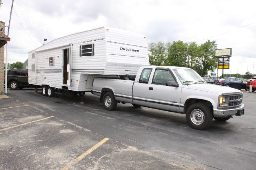
[[[4,34],[5,23],[0,21],[0,95],[4,94],[4,45],[10,38]]]

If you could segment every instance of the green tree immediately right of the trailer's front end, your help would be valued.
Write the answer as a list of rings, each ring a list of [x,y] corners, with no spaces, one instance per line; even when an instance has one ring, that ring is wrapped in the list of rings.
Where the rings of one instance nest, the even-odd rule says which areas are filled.
[[[149,63],[152,65],[163,65],[166,62],[166,47],[164,43],[150,43],[148,45]]]

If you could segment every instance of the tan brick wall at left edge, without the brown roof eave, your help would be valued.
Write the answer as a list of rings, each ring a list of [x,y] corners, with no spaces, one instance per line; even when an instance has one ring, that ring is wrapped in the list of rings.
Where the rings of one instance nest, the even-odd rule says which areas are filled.
[[[4,26],[5,23],[0,21],[0,29]],[[4,94],[4,46],[0,47],[0,95]]]

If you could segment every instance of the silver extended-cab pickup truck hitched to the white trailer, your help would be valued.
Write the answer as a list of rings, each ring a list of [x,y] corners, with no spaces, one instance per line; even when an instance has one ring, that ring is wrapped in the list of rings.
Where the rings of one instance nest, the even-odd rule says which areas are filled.
[[[244,115],[243,92],[206,83],[196,71],[185,67],[140,67],[134,81],[95,78],[92,93],[105,109],[117,103],[186,114],[190,127],[202,130],[217,121]]]

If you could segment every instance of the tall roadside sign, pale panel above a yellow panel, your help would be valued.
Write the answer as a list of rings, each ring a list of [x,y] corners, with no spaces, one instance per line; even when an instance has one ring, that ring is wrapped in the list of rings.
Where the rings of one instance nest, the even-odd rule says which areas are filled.
[[[229,69],[229,58],[231,55],[232,48],[215,49],[215,57],[218,58],[217,69],[222,69],[222,78],[224,77],[224,69]]]

